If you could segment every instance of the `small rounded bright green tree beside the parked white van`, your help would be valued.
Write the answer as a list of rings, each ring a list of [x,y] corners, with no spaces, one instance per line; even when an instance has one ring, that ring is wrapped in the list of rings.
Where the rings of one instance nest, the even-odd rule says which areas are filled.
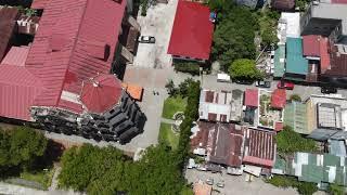
[[[256,68],[253,60],[240,58],[229,67],[232,79],[256,80],[262,78],[262,74]]]

